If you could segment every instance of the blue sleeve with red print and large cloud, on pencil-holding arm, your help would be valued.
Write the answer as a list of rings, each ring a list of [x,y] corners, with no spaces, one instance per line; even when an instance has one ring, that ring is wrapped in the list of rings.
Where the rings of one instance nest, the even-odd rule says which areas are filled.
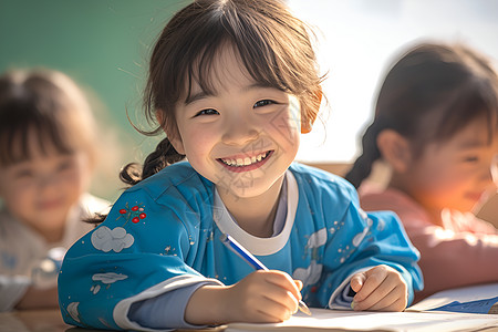
[[[185,204],[180,209],[160,205],[144,189],[124,193],[106,220],[65,255],[59,276],[64,321],[142,330],[128,319],[133,303],[199,282],[220,284],[187,263],[198,215]]]

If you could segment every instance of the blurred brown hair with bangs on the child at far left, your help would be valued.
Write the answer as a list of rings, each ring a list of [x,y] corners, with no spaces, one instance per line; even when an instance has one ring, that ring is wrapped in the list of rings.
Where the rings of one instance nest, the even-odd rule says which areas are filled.
[[[94,118],[80,87],[48,69],[12,70],[0,76],[0,165],[29,160],[29,135],[39,151],[62,154],[77,148],[94,156]]]

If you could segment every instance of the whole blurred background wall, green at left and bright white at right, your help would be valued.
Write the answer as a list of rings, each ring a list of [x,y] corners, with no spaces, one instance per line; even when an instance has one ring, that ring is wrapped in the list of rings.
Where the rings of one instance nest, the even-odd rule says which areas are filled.
[[[126,112],[143,124],[141,93],[152,43],[188,2],[0,0],[0,71],[48,66],[68,73],[94,97],[101,124],[118,143],[116,160],[106,160],[111,184],[98,181],[97,194],[114,198],[118,168],[142,162],[157,142],[138,134]],[[323,123],[302,138],[300,160],[346,164],[354,158],[377,84],[404,46],[427,39],[461,41],[498,59],[497,0],[287,2],[315,29],[322,72],[328,72]]]

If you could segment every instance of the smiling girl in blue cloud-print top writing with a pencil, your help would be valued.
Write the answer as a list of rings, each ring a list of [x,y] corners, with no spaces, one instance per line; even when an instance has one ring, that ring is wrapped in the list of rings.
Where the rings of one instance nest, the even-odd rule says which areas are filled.
[[[320,83],[308,30],[284,2],[199,0],[179,11],[145,91],[146,115],[167,137],[142,174],[124,168],[133,186],[68,251],[64,320],[147,331],[278,322],[298,310],[301,289],[312,307],[403,310],[422,281],[398,220],[366,215],[350,184],[292,164]],[[255,272],[225,234],[272,270]]]

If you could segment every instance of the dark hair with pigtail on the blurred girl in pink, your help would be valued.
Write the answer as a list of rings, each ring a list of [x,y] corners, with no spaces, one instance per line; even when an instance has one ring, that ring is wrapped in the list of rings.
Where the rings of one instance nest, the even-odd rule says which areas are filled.
[[[383,129],[406,137],[416,156],[427,143],[444,142],[478,117],[487,120],[491,139],[498,127],[498,77],[489,61],[463,44],[418,44],[385,76],[362,155],[345,178],[357,188],[370,175],[381,158],[376,141]]]

